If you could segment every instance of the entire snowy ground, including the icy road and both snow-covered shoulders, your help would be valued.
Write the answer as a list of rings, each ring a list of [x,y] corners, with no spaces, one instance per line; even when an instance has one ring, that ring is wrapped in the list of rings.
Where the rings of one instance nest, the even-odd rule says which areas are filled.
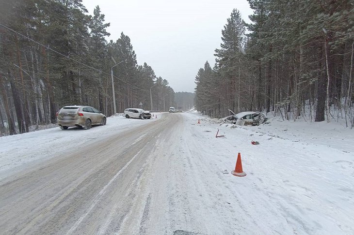
[[[354,234],[353,132],[329,143],[330,130],[317,129],[311,142],[291,124],[280,135],[277,123],[198,118],[113,117],[88,131],[1,137],[0,234]],[[245,177],[230,174],[238,152]]]

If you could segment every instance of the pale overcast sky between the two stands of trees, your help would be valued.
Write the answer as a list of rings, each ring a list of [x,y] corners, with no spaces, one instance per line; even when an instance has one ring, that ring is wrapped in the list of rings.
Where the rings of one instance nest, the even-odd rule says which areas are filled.
[[[99,5],[111,26],[108,40],[128,35],[138,64],[146,62],[177,91],[194,92],[195,75],[215,63],[221,30],[237,8],[249,22],[247,0],[82,0],[93,15]]]

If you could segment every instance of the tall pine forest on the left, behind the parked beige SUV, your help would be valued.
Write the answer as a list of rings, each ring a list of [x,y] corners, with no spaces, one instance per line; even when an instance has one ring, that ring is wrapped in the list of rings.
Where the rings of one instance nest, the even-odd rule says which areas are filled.
[[[81,0],[2,0],[0,8],[0,135],[56,122],[64,105],[113,114],[128,107],[162,110],[174,90],[144,63],[130,39],[107,42],[105,16],[88,15]],[[143,105],[140,105],[142,103]],[[168,108],[168,107],[167,107]]]

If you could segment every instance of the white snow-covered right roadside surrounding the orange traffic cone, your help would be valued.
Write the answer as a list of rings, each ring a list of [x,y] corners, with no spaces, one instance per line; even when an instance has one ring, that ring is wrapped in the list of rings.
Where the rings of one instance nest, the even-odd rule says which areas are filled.
[[[240,127],[194,115],[195,136],[210,146],[200,154],[219,167],[224,178],[225,186],[218,190],[225,202],[239,204],[239,209],[233,208],[239,231],[354,234],[354,130],[338,123],[277,119],[259,127]],[[225,138],[215,138],[217,129]],[[251,145],[252,140],[260,144]],[[238,152],[247,176],[223,175],[224,169],[229,173],[233,169]],[[227,211],[230,206],[223,207]]]

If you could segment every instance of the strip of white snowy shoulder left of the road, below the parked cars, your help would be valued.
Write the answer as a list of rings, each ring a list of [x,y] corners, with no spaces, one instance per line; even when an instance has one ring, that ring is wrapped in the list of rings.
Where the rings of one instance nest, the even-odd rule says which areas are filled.
[[[107,118],[105,126],[93,126],[90,130],[59,127],[0,137],[0,178],[30,163],[45,160],[90,145],[129,128],[145,125],[158,119],[132,119],[121,115]]]

